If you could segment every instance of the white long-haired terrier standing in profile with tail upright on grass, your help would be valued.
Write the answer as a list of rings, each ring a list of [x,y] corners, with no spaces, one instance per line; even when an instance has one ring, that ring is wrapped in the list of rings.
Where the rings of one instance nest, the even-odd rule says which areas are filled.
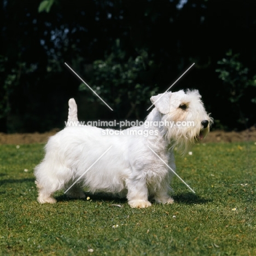
[[[45,157],[35,168],[38,201],[55,203],[54,192],[60,189],[84,198],[82,188],[87,188],[126,197],[131,207],[148,207],[149,199],[172,203],[168,192],[173,173],[165,163],[176,171],[173,149],[185,154],[212,123],[200,98],[197,90],[152,96],[155,107],[144,124],[119,135],[88,125],[65,127],[49,138]],[[78,121],[73,99],[68,121]]]

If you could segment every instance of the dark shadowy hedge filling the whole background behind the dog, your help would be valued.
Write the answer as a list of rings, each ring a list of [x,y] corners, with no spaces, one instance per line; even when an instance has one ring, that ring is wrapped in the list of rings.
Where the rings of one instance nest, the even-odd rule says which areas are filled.
[[[255,87],[246,78],[255,80],[255,9],[255,1],[242,0],[3,1],[0,131],[62,128],[71,97],[83,120],[143,119],[149,96],[164,92],[193,62],[172,90],[199,89],[216,128],[251,126]],[[216,72],[228,49],[244,66],[238,80],[220,80]],[[65,62],[100,88],[113,113],[91,91],[79,91],[81,81]]]

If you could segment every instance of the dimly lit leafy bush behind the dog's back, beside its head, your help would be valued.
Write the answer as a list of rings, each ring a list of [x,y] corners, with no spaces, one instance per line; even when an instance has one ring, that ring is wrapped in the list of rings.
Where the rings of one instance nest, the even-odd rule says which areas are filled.
[[[104,100],[113,106],[119,117],[142,119],[143,110],[140,109],[148,102],[152,95],[158,93],[158,85],[152,83],[154,75],[154,61],[150,59],[146,50],[137,50],[135,57],[127,56],[120,47],[120,40],[113,46],[104,60],[96,60],[90,70],[90,86]],[[80,91],[88,92],[88,101],[97,98],[84,83],[79,86]],[[102,103],[103,104],[103,103]],[[130,109],[127,106],[130,105]],[[127,109],[126,113],[120,113]],[[135,113],[133,113],[135,112]]]

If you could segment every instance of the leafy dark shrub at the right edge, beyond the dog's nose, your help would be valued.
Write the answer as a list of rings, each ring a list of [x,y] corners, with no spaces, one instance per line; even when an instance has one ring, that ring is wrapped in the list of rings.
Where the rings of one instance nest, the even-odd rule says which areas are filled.
[[[248,122],[251,123],[256,118],[256,114],[250,111],[256,109],[256,74],[253,73],[253,77],[249,78],[249,69],[243,66],[239,56],[229,50],[226,56],[218,61],[219,68],[216,72],[223,81],[219,97],[228,103],[230,116],[237,117],[235,120],[223,121],[223,125],[233,123],[246,127]]]

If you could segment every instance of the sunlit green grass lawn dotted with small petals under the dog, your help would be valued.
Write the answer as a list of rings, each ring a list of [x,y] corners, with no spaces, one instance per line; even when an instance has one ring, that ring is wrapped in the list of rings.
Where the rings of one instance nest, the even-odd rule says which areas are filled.
[[[33,168],[43,154],[42,144],[0,145],[0,255],[256,255],[253,142],[201,144],[177,156],[196,194],[174,177],[175,203],[144,209],[63,193],[39,205]]]

